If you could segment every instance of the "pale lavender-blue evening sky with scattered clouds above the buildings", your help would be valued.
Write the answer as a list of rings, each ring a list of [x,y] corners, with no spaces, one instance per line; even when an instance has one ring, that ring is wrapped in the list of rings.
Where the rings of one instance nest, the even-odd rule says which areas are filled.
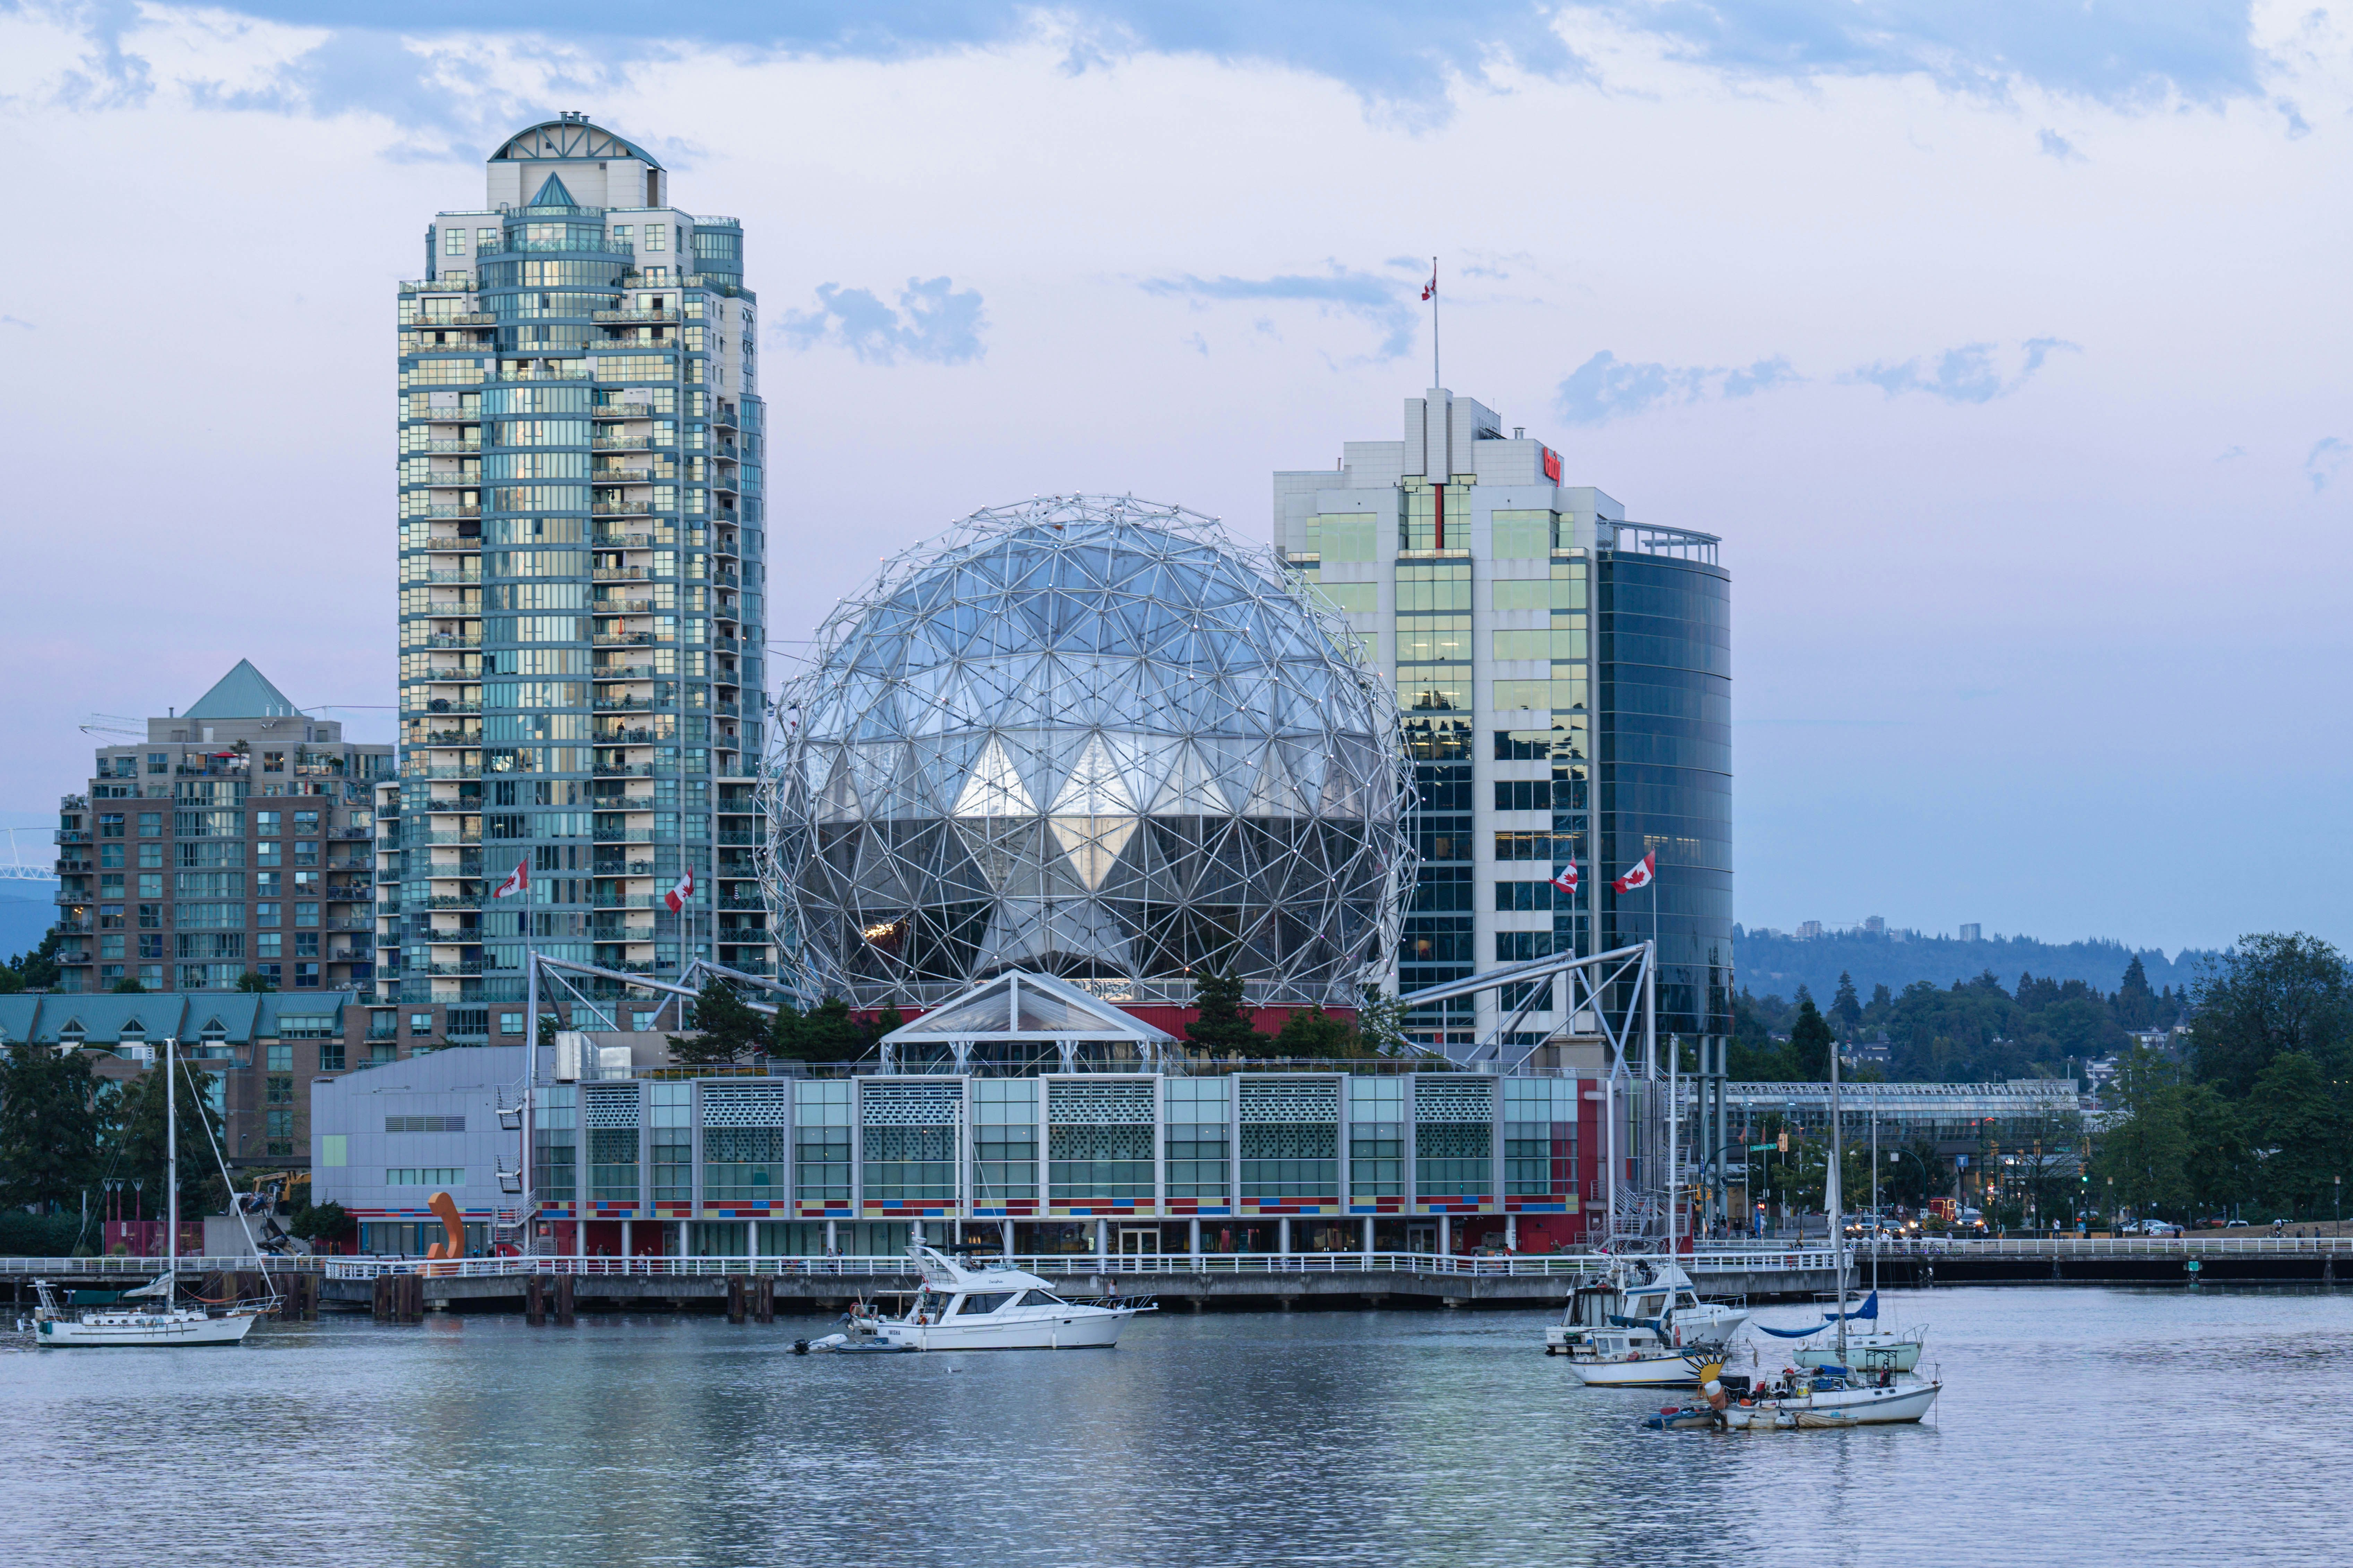
[[[744,219],[779,672],[984,505],[1266,541],[1398,437],[1438,256],[1445,386],[1725,541],[1741,922],[2353,943],[2353,19],[544,14],[0,0],[5,820],[238,658],[391,738],[395,284],[586,110]]]

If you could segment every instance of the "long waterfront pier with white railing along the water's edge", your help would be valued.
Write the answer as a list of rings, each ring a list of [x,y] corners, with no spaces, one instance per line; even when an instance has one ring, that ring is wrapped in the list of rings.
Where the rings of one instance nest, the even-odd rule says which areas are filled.
[[[1548,1307],[1609,1258],[1548,1253],[1461,1258],[1445,1253],[1209,1253],[1012,1258],[1064,1295],[1151,1295],[1167,1309],[1297,1307]],[[2188,1265],[2195,1262],[2198,1269]],[[1812,1300],[1833,1288],[1826,1246],[1701,1246],[1682,1265],[1704,1295]],[[426,1312],[704,1312],[765,1321],[774,1312],[838,1312],[852,1300],[906,1293],[906,1258],[184,1258],[184,1274],[259,1284],[264,1269],[287,1295],[285,1316],[320,1307],[416,1321]],[[1868,1279],[1868,1248],[1849,1248],[1849,1279]],[[0,1258],[0,1279],[19,1302],[31,1281],[61,1288],[127,1288],[165,1269],[162,1258]],[[2353,1284],[2353,1237],[2235,1239],[2017,1239],[1904,1244],[1882,1248],[1889,1288],[2082,1284]],[[245,1291],[259,1295],[259,1291]]]

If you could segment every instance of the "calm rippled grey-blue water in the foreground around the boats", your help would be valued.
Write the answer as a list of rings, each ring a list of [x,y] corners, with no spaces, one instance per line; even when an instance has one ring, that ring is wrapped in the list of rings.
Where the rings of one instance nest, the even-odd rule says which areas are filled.
[[[1937,1422],[1657,1434],[1534,1312],[1172,1312],[1113,1352],[720,1319],[0,1352],[0,1563],[2339,1561],[2353,1298],[2000,1288]],[[1767,1309],[1767,1321],[1802,1312]]]

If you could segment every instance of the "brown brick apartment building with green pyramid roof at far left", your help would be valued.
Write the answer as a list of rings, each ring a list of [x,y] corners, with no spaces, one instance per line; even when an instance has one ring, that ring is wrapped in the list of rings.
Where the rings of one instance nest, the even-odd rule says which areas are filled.
[[[344,741],[242,658],[146,731],[101,745],[87,790],[59,802],[59,990],[372,985],[393,748]]]

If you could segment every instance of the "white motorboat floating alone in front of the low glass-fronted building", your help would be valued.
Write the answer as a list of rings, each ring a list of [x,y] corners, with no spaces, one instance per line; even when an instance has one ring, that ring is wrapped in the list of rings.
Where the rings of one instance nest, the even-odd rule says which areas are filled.
[[[929,1246],[911,1246],[922,1288],[899,1316],[852,1312],[849,1328],[793,1349],[1108,1349],[1151,1302],[1073,1302],[1038,1274],[965,1267]]]

